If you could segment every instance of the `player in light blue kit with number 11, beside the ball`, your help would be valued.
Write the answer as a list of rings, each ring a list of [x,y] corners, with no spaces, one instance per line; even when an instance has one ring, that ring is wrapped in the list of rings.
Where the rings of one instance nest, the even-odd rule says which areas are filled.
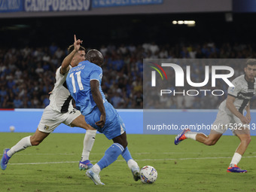
[[[66,78],[69,88],[78,110],[84,115],[85,120],[99,133],[103,133],[114,144],[106,151],[105,155],[93,168],[87,170],[87,176],[95,184],[103,184],[99,179],[99,172],[117,160],[121,154],[133,173],[135,181],[139,180],[139,166],[133,160],[127,148],[126,130],[123,120],[117,111],[105,99],[100,84],[102,83],[103,56],[99,50],[88,51],[85,61],[70,69]]]

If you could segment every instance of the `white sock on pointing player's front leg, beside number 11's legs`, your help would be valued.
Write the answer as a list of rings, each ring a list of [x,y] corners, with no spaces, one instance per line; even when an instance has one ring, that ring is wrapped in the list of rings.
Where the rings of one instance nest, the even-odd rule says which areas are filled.
[[[89,160],[90,151],[93,148],[97,130],[87,130],[84,136],[84,148],[81,161]]]

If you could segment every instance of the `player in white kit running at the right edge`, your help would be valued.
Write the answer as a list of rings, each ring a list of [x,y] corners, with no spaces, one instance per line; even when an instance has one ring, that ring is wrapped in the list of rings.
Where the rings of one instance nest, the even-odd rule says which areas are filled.
[[[256,92],[256,59],[248,59],[245,63],[244,71],[245,75],[241,75],[232,81],[234,87],[228,88],[227,99],[221,102],[219,106],[218,114],[215,122],[212,123],[212,130],[209,136],[184,130],[175,137],[175,145],[188,138],[205,145],[215,145],[227,128],[230,128],[233,134],[239,137],[240,144],[236,148],[227,172],[247,172],[247,170],[240,169],[237,164],[251,142],[248,126],[251,121],[249,102]],[[245,111],[246,115],[244,116]]]

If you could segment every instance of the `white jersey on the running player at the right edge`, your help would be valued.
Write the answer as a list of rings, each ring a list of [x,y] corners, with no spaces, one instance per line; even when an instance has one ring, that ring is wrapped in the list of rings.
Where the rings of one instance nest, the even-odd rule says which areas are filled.
[[[229,87],[227,94],[235,97],[233,104],[236,109],[243,114],[245,107],[248,105],[248,102],[256,93],[256,78],[254,82],[248,82],[245,80],[245,75],[241,75],[238,78],[235,78],[232,81],[232,84],[235,87]],[[220,109],[227,111],[227,114],[232,114],[231,111],[226,107],[227,99],[221,102]]]

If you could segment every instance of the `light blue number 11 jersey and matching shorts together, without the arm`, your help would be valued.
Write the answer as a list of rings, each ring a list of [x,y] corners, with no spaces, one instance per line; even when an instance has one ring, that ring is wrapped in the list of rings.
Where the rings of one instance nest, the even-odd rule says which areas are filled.
[[[105,107],[106,120],[102,128],[95,124],[100,120],[101,113],[93,100],[90,89],[91,80],[99,81],[99,91],[102,94]],[[102,84],[101,67],[89,61],[80,62],[78,66],[69,70],[66,84],[71,96],[75,99],[76,108],[81,111],[85,121],[90,126],[93,126],[100,133],[104,133],[108,139],[113,139],[125,132],[123,120],[113,106],[105,99],[105,95],[102,92],[102,87],[100,86]]]

